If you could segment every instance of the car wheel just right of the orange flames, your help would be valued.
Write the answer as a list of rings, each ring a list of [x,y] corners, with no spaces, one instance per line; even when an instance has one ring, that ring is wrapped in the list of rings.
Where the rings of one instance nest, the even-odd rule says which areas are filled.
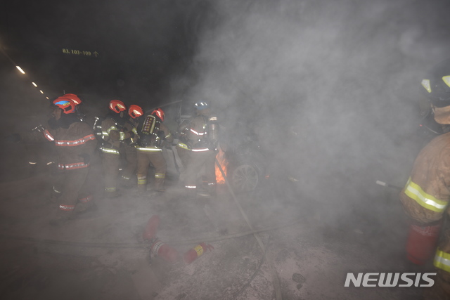
[[[259,183],[258,171],[251,164],[240,164],[231,170],[229,181],[236,193],[252,192]]]

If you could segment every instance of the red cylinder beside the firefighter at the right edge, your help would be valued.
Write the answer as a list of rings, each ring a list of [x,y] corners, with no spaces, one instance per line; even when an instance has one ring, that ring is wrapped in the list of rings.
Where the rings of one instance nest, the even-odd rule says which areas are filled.
[[[409,227],[408,242],[406,243],[406,253],[409,261],[416,265],[423,265],[436,251],[437,238],[441,224],[435,226]]]

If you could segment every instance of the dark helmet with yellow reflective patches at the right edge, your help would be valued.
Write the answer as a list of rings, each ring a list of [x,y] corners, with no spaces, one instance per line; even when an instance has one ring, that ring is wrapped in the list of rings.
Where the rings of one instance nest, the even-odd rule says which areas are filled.
[[[428,100],[435,107],[450,105],[450,59],[432,67],[421,82]]]

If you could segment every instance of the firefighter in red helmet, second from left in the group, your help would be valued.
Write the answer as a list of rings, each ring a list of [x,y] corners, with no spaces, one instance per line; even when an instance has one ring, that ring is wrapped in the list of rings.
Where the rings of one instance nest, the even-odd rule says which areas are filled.
[[[105,172],[105,197],[119,197],[117,191],[117,179],[119,177],[120,156],[125,157],[126,150],[124,141],[134,138],[132,126],[127,124],[124,114],[127,107],[120,100],[110,100],[108,105],[110,111],[101,122],[101,156],[103,171]],[[129,181],[131,174],[136,169],[136,159],[132,156],[127,159],[127,165],[122,171],[122,178]]]

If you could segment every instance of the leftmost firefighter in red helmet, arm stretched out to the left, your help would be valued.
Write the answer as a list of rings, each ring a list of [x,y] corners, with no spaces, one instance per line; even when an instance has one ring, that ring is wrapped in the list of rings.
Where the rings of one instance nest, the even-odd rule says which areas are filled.
[[[96,138],[90,126],[81,122],[75,113],[75,103],[59,97],[51,103],[53,118],[49,119],[49,129],[15,134],[16,141],[54,142],[58,151],[58,169],[62,177],[59,209],[53,226],[63,225],[72,213],[86,211],[93,207],[92,195],[87,189],[86,177],[89,162],[96,149]],[[77,204],[77,202],[79,202]]]

